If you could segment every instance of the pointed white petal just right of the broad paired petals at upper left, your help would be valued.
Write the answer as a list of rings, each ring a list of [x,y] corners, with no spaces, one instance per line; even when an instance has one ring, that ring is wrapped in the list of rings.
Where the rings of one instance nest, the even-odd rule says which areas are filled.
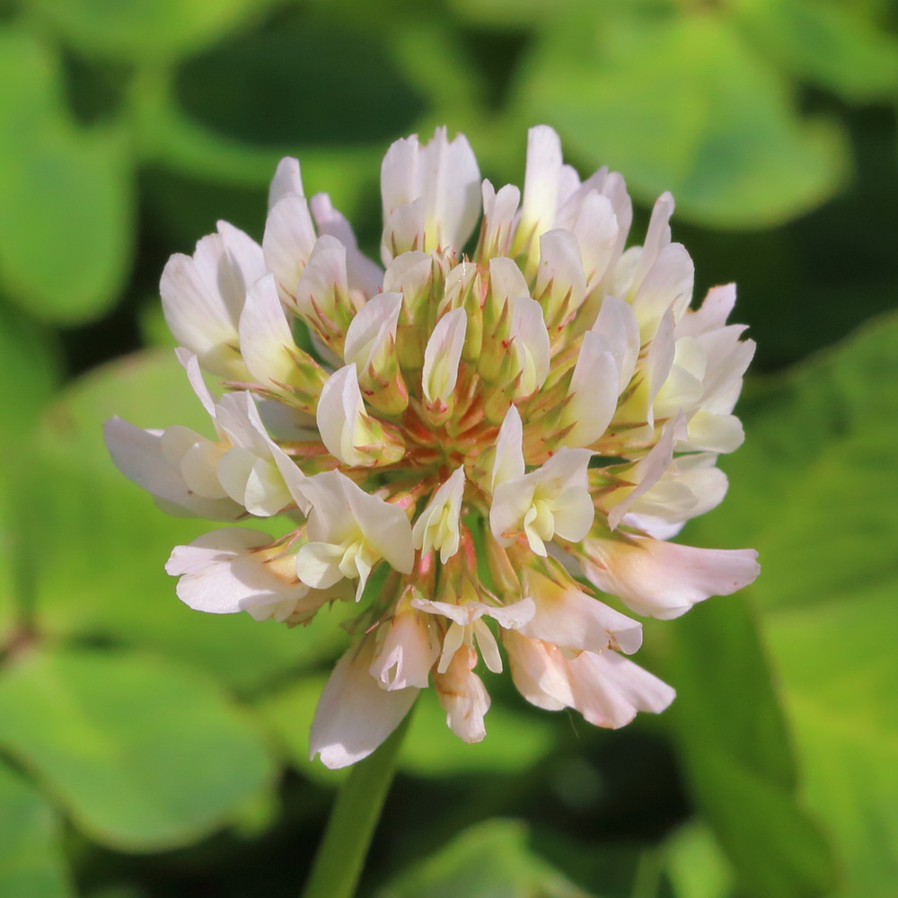
[[[269,388],[294,385],[296,344],[277,296],[274,275],[266,275],[251,286],[239,333],[243,361],[258,383]]]

